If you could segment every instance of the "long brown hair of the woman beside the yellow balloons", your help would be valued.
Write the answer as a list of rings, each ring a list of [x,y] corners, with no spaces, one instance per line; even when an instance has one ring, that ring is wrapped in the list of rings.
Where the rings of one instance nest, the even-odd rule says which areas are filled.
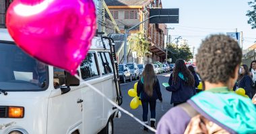
[[[148,94],[148,96],[153,95],[153,86],[156,82],[156,74],[154,72],[154,67],[152,64],[146,64],[143,72],[142,72],[142,78],[143,78],[143,90]]]

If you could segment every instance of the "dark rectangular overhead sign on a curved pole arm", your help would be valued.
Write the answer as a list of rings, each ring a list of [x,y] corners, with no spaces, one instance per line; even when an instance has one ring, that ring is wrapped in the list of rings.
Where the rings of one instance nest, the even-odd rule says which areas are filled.
[[[169,16],[152,17],[150,23],[179,23],[179,9],[150,9],[150,17],[154,15]]]

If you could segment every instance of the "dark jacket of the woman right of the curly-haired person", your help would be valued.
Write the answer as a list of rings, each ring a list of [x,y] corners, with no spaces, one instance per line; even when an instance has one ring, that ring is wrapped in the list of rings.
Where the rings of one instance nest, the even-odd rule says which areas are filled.
[[[244,88],[245,94],[251,98],[251,86],[253,85],[253,80],[249,75],[244,76],[241,80],[238,80],[238,88]]]

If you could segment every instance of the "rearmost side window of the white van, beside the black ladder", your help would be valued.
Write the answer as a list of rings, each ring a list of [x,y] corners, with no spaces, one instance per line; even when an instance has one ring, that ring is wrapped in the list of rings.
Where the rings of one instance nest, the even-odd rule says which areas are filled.
[[[110,60],[110,54],[108,52],[99,52],[99,67],[102,75],[113,72],[113,66]]]

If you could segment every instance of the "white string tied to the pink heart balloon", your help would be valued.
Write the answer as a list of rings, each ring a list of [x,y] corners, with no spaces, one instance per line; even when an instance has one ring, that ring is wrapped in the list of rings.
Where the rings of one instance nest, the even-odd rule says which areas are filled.
[[[135,117],[133,114],[129,113],[128,111],[126,111],[125,109],[123,109],[122,107],[120,107],[119,105],[117,105],[117,103],[115,103],[113,100],[110,100],[105,94],[103,94],[102,92],[100,92],[100,90],[98,90],[97,88],[95,88],[94,86],[92,86],[92,84],[88,83],[87,81],[79,78],[79,76],[77,74],[75,74],[75,77],[79,80],[81,80],[82,82],[84,82],[87,86],[89,86],[90,88],[92,88],[95,92],[98,92],[98,94],[100,94],[103,98],[105,98],[106,100],[108,100],[109,103],[111,103],[112,105],[114,105],[115,107],[117,107],[117,109],[123,111],[123,113],[126,113],[127,115],[129,115],[130,117],[132,117],[133,119],[135,119],[135,121],[137,121],[138,123],[140,123],[141,125],[147,127],[148,129],[150,129],[151,131],[153,131],[154,133],[156,133],[156,129],[153,129],[152,127],[150,127],[149,125],[146,125],[146,123],[143,123],[142,121],[140,121],[139,119],[137,119],[137,117]]]

